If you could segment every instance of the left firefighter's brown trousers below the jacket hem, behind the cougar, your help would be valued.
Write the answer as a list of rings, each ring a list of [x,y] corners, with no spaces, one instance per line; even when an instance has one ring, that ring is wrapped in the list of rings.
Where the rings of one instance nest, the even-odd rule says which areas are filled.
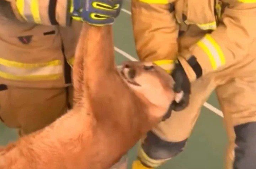
[[[4,86],[2,84],[2,86]],[[0,116],[5,125],[28,134],[42,129],[65,114],[68,88],[31,89],[7,86],[0,91]],[[72,92],[69,92],[72,93]]]

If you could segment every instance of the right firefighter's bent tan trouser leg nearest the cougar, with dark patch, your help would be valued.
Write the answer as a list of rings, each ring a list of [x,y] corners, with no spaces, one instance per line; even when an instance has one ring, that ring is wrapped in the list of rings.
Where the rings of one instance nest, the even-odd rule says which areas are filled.
[[[203,103],[215,88],[211,76],[192,83],[190,104],[147,133],[139,146],[138,160],[132,169],[156,168],[182,152]]]

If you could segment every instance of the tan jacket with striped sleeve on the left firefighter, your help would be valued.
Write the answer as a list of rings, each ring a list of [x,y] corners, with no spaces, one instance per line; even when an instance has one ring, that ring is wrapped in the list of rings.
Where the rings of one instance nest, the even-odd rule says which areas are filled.
[[[81,22],[71,20],[69,1],[6,1],[11,5],[5,7],[20,21],[1,7],[0,83],[32,88],[70,85]]]

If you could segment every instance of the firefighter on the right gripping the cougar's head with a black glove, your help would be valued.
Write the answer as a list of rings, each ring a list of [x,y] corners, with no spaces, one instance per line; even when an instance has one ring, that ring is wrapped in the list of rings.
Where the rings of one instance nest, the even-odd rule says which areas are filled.
[[[216,91],[229,137],[226,169],[256,166],[256,1],[132,0],[137,53],[191,82],[187,107],[171,111],[140,141],[133,169],[157,168],[186,146]],[[175,68],[176,69],[176,68]]]

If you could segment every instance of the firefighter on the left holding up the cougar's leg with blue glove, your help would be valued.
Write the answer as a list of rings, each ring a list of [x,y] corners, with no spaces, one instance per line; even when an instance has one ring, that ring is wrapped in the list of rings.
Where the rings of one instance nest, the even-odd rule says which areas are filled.
[[[122,0],[1,0],[1,121],[26,135],[66,113],[82,22],[112,24],[121,6]]]

